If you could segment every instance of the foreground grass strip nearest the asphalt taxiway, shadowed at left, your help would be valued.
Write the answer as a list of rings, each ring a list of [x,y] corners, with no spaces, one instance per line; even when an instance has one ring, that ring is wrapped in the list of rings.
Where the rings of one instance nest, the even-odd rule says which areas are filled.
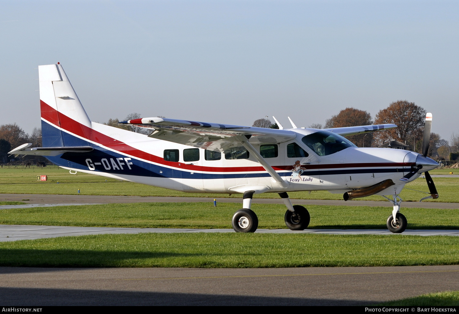
[[[458,261],[455,236],[146,233],[0,243],[1,266],[277,268]]]

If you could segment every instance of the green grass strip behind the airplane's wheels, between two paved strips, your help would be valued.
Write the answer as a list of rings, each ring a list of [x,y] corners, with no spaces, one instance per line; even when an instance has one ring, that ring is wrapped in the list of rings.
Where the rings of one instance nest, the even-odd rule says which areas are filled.
[[[0,224],[82,227],[231,228],[240,203],[123,203],[0,210]],[[253,204],[262,229],[286,228],[285,206]],[[392,207],[308,206],[309,229],[386,229]],[[459,229],[459,209],[403,208],[408,229]]]

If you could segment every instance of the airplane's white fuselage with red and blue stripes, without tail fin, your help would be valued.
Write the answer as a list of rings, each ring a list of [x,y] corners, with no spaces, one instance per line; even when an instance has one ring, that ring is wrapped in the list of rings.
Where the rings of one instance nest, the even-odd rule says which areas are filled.
[[[317,130],[293,129],[297,138],[272,143],[277,145],[278,155],[265,158],[289,183],[287,188],[283,188],[253,156],[247,159],[226,159],[224,152],[221,152],[219,160],[206,160],[205,150],[198,149],[199,160],[190,162],[184,160],[184,150],[192,148],[190,146],[152,139],[100,123],[93,122],[92,129],[96,134],[106,137],[102,139],[93,135],[92,140],[88,140],[66,131],[69,135],[95,145],[95,151],[85,154],[84,163],[66,165],[56,162],[57,158],[51,161],[75,171],[193,193],[236,193],[250,186],[255,186],[260,192],[328,190],[342,193],[392,179],[396,185],[389,188],[391,191],[378,194],[398,194],[407,183],[399,179],[410,171],[419,155],[390,148],[349,147],[327,156],[319,156],[301,141],[304,135]],[[309,156],[288,157],[287,145],[292,142],[301,146]],[[253,146],[260,150],[260,145]],[[99,150],[104,151],[104,154],[97,154]],[[165,150],[177,150],[177,161],[164,160]],[[301,164],[299,171],[295,171],[297,161]],[[415,175],[409,181],[418,176]]]

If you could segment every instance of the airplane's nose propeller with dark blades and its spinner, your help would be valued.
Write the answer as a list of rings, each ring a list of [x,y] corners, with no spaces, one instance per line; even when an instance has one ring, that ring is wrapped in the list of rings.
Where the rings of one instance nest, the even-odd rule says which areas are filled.
[[[408,181],[409,178],[414,176],[414,174],[416,174],[421,168],[423,168],[423,166],[426,166],[432,169],[433,166],[438,165],[433,160],[427,157],[427,152],[429,151],[429,144],[430,144],[431,127],[432,127],[432,114],[430,112],[427,112],[427,114],[425,115],[424,136],[422,138],[422,155],[416,158],[416,163],[417,163],[416,168],[413,168],[411,172],[406,174],[400,180]],[[438,198],[437,188],[435,187],[435,184],[433,183],[431,175],[429,174],[428,171],[425,171],[424,174],[425,174],[425,180],[427,181],[427,186],[429,187],[429,193],[431,196],[426,196],[426,197],[421,198],[420,202],[427,198],[433,198],[433,199]]]

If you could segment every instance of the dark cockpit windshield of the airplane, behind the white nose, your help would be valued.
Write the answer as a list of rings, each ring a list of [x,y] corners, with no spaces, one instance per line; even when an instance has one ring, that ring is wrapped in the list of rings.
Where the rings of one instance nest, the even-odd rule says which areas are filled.
[[[301,140],[319,156],[331,155],[347,147],[357,147],[341,135],[328,131],[315,132]]]

